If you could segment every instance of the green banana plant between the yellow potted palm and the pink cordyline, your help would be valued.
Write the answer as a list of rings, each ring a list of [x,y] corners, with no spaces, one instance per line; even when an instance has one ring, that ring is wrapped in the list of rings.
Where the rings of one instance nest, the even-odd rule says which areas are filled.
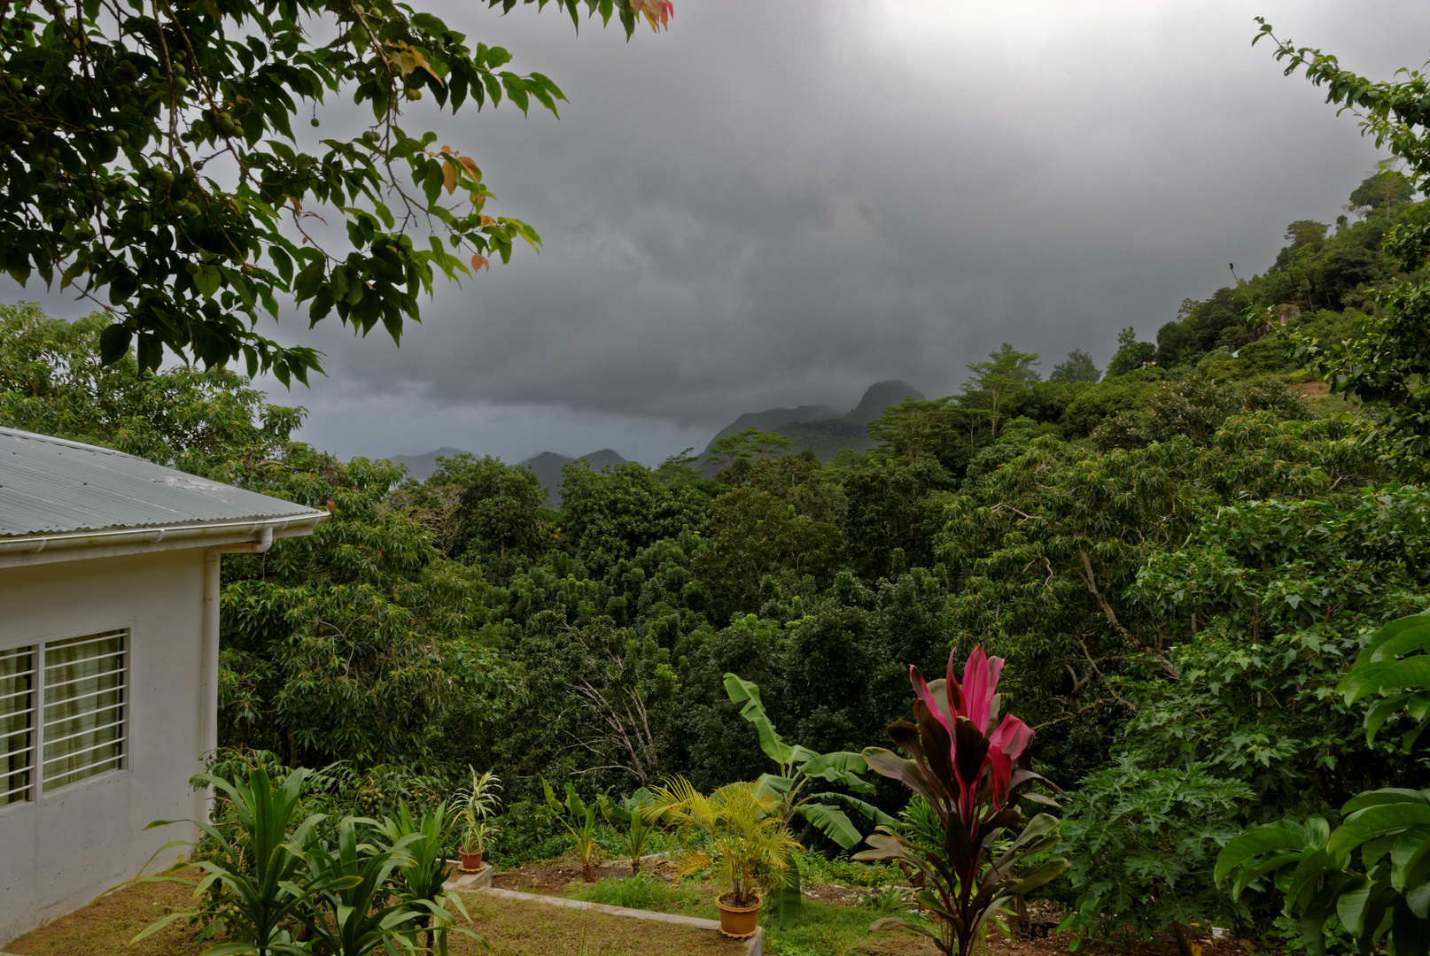
[[[872,795],[874,785],[859,776],[869,769],[861,755],[847,750],[815,753],[808,747],[785,743],[765,712],[765,704],[759,700],[759,687],[749,680],[726,673],[725,693],[729,694],[731,703],[742,704],[739,716],[754,725],[755,733],[759,735],[759,749],[778,766],[776,773],[759,775],[756,785],[779,800],[781,822],[789,823],[795,816],[801,816],[847,850],[854,849],[864,839],[854,822],[849,820],[847,810],[855,810],[875,825],[898,825],[898,820],[872,803],[848,793],[814,789],[818,786],[817,782],[824,782],[839,785],[854,793]],[[784,885],[769,893],[768,906],[775,925],[779,929],[794,926],[799,917],[802,902],[799,866],[797,860],[791,859]]]

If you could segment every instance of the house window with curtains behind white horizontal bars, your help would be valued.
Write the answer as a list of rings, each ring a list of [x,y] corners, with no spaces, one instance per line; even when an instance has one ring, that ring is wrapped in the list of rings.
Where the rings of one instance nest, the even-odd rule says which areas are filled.
[[[0,652],[0,806],[124,763],[129,632]]]

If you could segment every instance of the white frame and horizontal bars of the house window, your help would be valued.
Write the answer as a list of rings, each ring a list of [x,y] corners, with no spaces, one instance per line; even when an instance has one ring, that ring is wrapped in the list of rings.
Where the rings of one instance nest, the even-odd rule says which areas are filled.
[[[46,786],[47,783],[53,782],[57,777],[66,777],[70,773],[73,773],[73,770],[64,770],[64,772],[56,773],[56,775],[53,775],[53,777],[46,773],[46,769],[44,769],[46,763],[54,763],[56,760],[61,760],[63,759],[63,757],[53,757],[49,762],[44,759],[44,747],[46,747],[46,743],[49,742],[46,730],[49,729],[49,726],[63,725],[64,722],[74,719],[74,716],[57,717],[54,720],[46,720],[44,719],[44,712],[46,712],[46,709],[49,706],[49,704],[46,704],[44,696],[46,696],[47,687],[51,686],[51,684],[49,684],[46,682],[46,669],[49,666],[56,666],[56,664],[49,664],[49,652],[50,652],[51,647],[54,647],[57,644],[72,644],[72,643],[77,643],[77,642],[80,642],[83,639],[102,640],[104,637],[113,637],[113,636],[120,636],[122,640],[123,640],[122,650],[119,652],[120,654],[123,654],[123,666],[117,672],[104,672],[104,673],[106,674],[109,674],[109,673],[119,673],[120,674],[120,683],[116,687],[107,687],[107,689],[104,689],[102,692],[94,692],[94,693],[109,693],[112,690],[119,690],[120,692],[120,700],[119,700],[117,704],[110,704],[109,707],[103,707],[103,710],[117,710],[119,712],[117,713],[117,719],[114,719],[114,720],[112,720],[109,723],[92,727],[89,730],[80,730],[79,733],[72,733],[72,735],[67,735],[67,736],[57,737],[57,740],[67,740],[70,737],[80,736],[82,733],[94,733],[97,730],[106,730],[109,727],[119,726],[120,727],[120,733],[119,733],[119,736],[114,740],[106,740],[104,743],[96,745],[94,747],[87,747],[86,750],[77,752],[77,753],[83,755],[83,753],[87,753],[89,750],[94,750],[94,749],[99,749],[99,747],[109,747],[109,746],[114,746],[117,743],[119,745],[119,755],[114,757],[113,766],[110,766],[106,770],[102,770],[102,772],[90,775],[90,776],[80,777],[79,780],[70,780],[70,782],[61,783],[59,786],[47,787]],[[4,652],[16,652],[17,650],[17,652],[23,652],[23,653],[29,653],[30,654],[30,670],[21,672],[21,674],[17,674],[17,676],[30,674],[31,676],[31,683],[30,683],[30,689],[27,692],[17,692],[17,693],[29,693],[30,694],[30,706],[29,706],[29,709],[26,712],[23,712],[23,713],[29,713],[30,714],[29,743],[24,747],[20,747],[19,750],[10,750],[10,752],[6,752],[4,755],[0,755],[0,756],[10,756],[11,753],[29,752],[29,755],[30,755],[30,762],[29,762],[29,766],[27,766],[29,779],[26,780],[26,783],[21,787],[14,787],[14,789],[6,790],[6,792],[3,792],[3,795],[0,795],[0,796],[13,796],[17,792],[23,792],[24,793],[23,799],[20,799],[20,800],[14,800],[11,803],[3,803],[3,805],[0,805],[0,813],[4,813],[6,810],[11,810],[11,809],[19,807],[19,806],[33,806],[39,800],[46,800],[46,799],[51,799],[51,797],[60,797],[60,799],[63,799],[66,795],[69,795],[72,792],[73,787],[76,787],[76,786],[79,786],[82,783],[89,783],[92,780],[102,780],[102,779],[110,777],[110,776],[113,776],[116,773],[123,773],[123,772],[130,770],[130,757],[132,757],[132,753],[133,753],[133,746],[132,746],[132,740],[130,740],[130,730],[133,729],[133,683],[130,680],[132,672],[133,672],[133,637],[134,637],[134,629],[133,629],[133,626],[132,624],[120,624],[120,626],[109,627],[109,629],[103,629],[103,630],[83,630],[83,632],[73,633],[73,634],[53,634],[53,636],[47,636],[47,637],[30,640],[27,643],[16,644],[13,647],[4,647],[3,649]],[[112,654],[99,654],[99,656],[109,657]],[[83,662],[83,659],[82,659],[82,662]],[[70,662],[70,663],[82,663],[82,662]],[[82,677],[79,680],[89,680],[89,679],[92,679],[92,677]],[[74,683],[74,680],[56,682],[56,684],[53,684],[53,686],[63,686],[66,683]],[[7,694],[7,696],[10,696],[10,694]],[[83,696],[93,696],[93,694],[83,694]],[[79,697],[79,699],[82,699],[82,697]],[[61,703],[61,702],[56,702],[56,703]],[[76,714],[76,716],[80,716],[80,714]],[[76,755],[64,755],[64,756],[76,756]],[[3,782],[6,779],[7,777],[0,777],[0,782]]]

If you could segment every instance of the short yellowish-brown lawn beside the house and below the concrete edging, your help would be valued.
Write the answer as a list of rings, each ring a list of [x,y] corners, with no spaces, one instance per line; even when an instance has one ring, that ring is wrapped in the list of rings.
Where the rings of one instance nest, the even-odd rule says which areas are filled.
[[[453,935],[453,956],[735,956],[744,952],[741,943],[712,930],[480,895],[468,895],[463,902],[472,915],[469,927],[486,937],[492,949]],[[127,946],[146,926],[187,909],[187,903],[186,886],[142,883],[110,893],[3,949],[17,956],[197,956],[220,940],[199,942],[183,920],[137,946]]]

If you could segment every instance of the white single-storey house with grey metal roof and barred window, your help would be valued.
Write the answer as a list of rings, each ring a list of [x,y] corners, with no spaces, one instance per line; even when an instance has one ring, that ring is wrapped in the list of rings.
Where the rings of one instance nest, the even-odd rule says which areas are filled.
[[[144,826],[206,810],[219,556],[326,517],[0,427],[0,947],[193,836]]]

